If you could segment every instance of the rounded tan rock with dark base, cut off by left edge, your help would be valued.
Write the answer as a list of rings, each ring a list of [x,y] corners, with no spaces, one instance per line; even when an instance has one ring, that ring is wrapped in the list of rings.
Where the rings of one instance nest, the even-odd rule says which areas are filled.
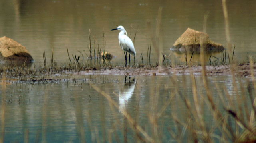
[[[33,62],[32,56],[24,46],[6,36],[0,38],[1,64],[30,64]]]

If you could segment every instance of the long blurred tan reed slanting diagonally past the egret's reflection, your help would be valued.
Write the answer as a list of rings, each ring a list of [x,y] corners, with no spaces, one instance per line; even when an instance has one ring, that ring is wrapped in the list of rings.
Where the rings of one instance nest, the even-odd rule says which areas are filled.
[[[101,89],[99,89],[99,87],[97,87],[96,85],[90,84],[91,87],[93,87],[93,89],[95,91],[97,91],[98,93],[100,93],[101,95],[103,95],[110,104],[112,104],[115,108],[119,108],[118,104],[104,91],[102,91]],[[139,133],[141,133],[145,139],[147,140],[147,142],[150,143],[154,143],[155,141],[141,128],[141,126],[139,126],[138,124],[136,124],[135,120],[133,120],[133,118],[131,118],[131,116],[127,113],[126,110],[123,110],[121,112],[128,120],[128,122],[131,124],[131,128],[137,130]]]

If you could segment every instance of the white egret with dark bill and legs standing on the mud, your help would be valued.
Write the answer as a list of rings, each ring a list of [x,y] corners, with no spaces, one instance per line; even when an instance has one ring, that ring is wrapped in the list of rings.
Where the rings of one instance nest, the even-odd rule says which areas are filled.
[[[127,61],[127,53],[129,53],[129,64],[130,64],[130,54],[132,56],[136,55],[135,49],[134,49],[134,45],[133,45],[133,41],[131,41],[131,39],[127,36],[127,32],[125,30],[125,28],[123,26],[118,26],[115,29],[112,30],[120,30],[120,33],[118,35],[118,39],[119,39],[119,44],[121,46],[121,48],[124,51],[125,54],[125,66],[126,66],[126,61]],[[111,30],[111,31],[112,31]],[[125,35],[126,33],[126,35]]]

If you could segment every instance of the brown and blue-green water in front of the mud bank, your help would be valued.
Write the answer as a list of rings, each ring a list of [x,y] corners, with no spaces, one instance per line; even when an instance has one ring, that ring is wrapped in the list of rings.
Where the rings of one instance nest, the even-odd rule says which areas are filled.
[[[139,139],[124,118],[122,112],[125,111],[149,135],[153,134],[150,117],[161,113],[156,120],[161,141],[175,140],[169,132],[169,129],[178,131],[173,118],[176,116],[180,122],[187,122],[188,112],[182,98],[175,92],[175,85],[171,78],[81,75],[76,79],[65,79],[43,85],[40,83],[8,85],[4,141],[23,142],[26,136],[25,129],[28,129],[29,142],[34,142],[37,138],[39,141],[45,139],[46,142],[78,142],[81,141],[81,131],[87,142],[95,142],[97,139],[100,142],[104,140],[123,142],[123,132],[126,127],[128,141],[134,142]],[[175,82],[178,83],[178,90],[191,101],[193,106],[190,79],[191,77],[187,75],[178,76]],[[225,114],[219,94],[224,93],[224,87],[231,96],[235,94],[232,79],[231,77],[208,77],[208,79],[211,81],[209,87],[212,98],[222,114]],[[97,85],[107,93],[117,107],[110,106],[110,102],[95,91],[89,83]],[[221,88],[217,88],[216,84]],[[206,99],[201,77],[196,77],[196,85],[198,95],[203,94],[202,96]],[[3,87],[0,88],[2,91]],[[230,98],[232,104],[242,100],[242,93],[238,94],[237,97]],[[200,96],[199,101],[202,101]],[[224,102],[228,103],[228,97],[224,97]],[[166,108],[163,108],[165,105],[167,105]],[[161,109],[164,109],[163,112]],[[215,129],[216,124],[208,107],[203,105],[201,110],[207,128]],[[215,132],[220,134],[218,129]],[[183,136],[185,141],[187,135]]]

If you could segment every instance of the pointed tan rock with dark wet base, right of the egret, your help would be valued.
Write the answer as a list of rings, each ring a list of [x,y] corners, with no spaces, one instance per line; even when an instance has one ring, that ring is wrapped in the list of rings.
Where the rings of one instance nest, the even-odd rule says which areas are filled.
[[[170,50],[177,52],[178,54],[182,53],[192,53],[200,54],[200,39],[203,39],[204,43],[204,52],[206,54],[219,53],[224,51],[224,47],[221,44],[210,41],[207,33],[196,31],[188,28],[182,35],[179,37]]]

